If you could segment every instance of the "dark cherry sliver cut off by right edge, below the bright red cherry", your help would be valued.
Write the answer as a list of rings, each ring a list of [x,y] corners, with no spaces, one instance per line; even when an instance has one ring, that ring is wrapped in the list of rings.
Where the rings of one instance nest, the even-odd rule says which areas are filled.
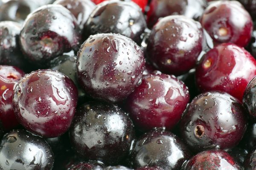
[[[244,107],[247,109],[253,120],[256,120],[256,77],[253,77],[244,91]]]

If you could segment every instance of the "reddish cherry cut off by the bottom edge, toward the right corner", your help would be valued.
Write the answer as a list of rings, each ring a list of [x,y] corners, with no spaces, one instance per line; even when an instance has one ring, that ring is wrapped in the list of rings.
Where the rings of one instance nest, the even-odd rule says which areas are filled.
[[[185,162],[181,170],[243,170],[224,150],[207,150]]]

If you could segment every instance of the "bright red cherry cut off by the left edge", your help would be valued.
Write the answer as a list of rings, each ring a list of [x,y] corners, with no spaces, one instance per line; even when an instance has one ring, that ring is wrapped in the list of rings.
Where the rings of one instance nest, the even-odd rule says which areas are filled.
[[[0,121],[6,130],[19,124],[12,108],[12,97],[15,86],[24,75],[17,67],[0,65]]]

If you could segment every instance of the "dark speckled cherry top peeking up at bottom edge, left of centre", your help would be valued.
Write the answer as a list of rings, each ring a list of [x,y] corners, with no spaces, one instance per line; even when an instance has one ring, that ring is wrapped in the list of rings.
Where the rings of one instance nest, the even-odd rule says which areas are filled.
[[[105,170],[104,164],[97,161],[81,161],[71,165],[67,170]]]

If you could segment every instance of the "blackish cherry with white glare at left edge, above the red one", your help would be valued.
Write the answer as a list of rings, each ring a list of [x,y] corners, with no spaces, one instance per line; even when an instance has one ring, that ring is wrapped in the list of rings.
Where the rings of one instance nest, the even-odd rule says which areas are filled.
[[[0,63],[17,66],[26,72],[30,72],[33,66],[27,64],[27,60],[20,51],[18,41],[20,30],[20,23],[13,21],[0,22]]]

